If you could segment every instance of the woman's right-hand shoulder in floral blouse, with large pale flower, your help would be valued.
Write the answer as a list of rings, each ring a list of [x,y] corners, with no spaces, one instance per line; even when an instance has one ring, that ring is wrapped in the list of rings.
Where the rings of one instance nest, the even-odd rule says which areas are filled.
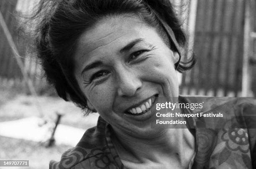
[[[196,165],[228,165],[237,159],[256,167],[256,100],[254,98],[182,96],[187,103],[202,103],[203,116],[196,119]],[[219,113],[223,116],[215,116]],[[204,144],[202,144],[204,143]],[[204,159],[204,160],[202,160]],[[233,164],[230,164],[233,165]],[[238,164],[237,164],[238,165]],[[250,167],[248,167],[250,168]]]

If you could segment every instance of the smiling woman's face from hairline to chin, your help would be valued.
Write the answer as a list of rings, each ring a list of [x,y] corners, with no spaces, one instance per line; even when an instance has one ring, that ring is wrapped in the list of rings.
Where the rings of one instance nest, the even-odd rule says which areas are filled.
[[[114,130],[147,137],[159,132],[150,123],[156,96],[178,96],[178,57],[139,18],[105,18],[79,37],[74,73],[88,106]]]

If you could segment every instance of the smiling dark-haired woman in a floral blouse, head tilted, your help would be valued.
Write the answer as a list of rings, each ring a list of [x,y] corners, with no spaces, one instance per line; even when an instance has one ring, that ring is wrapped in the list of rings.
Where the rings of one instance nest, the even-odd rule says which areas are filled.
[[[232,168],[235,157],[237,166],[255,167],[253,130],[236,131],[247,134],[246,150],[237,151],[225,149],[227,131],[197,129],[195,121],[196,129],[151,128],[160,98],[178,101],[176,72],[195,63],[180,62],[185,36],[169,0],[42,0],[34,18],[48,81],[64,100],[100,114],[50,168]]]

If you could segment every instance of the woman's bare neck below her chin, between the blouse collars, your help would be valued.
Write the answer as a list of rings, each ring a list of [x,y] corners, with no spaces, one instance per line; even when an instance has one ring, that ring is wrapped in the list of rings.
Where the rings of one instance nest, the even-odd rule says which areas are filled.
[[[183,156],[187,147],[194,148],[188,129],[165,129],[153,138],[141,138],[112,129],[112,140],[121,159],[133,162],[159,161],[163,157]]]

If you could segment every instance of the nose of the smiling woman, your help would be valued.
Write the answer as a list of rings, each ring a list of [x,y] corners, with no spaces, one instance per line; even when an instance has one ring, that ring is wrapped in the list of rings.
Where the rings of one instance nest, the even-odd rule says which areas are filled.
[[[119,69],[118,72],[118,96],[134,96],[142,86],[138,73],[125,68]]]

